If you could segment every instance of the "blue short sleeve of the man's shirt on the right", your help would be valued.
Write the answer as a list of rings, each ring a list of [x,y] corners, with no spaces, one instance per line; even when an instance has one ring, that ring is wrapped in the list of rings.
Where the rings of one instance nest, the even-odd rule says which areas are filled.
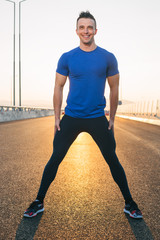
[[[118,62],[115,56],[111,53],[109,56],[109,64],[107,67],[107,77],[111,77],[119,73]]]

